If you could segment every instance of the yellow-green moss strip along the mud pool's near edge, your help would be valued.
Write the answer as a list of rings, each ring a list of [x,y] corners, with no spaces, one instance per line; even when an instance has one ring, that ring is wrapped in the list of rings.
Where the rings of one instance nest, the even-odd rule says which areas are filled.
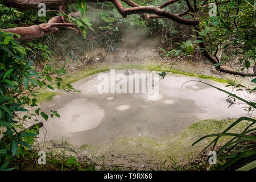
[[[197,139],[214,133],[221,133],[236,119],[206,119],[194,123],[184,131],[170,136],[163,141],[151,139],[148,137],[125,137],[115,139],[113,142],[102,146],[86,146],[81,147],[81,154],[101,156],[105,159],[119,160],[120,156],[125,160],[122,163],[130,166],[127,161],[135,161],[137,163],[151,163],[152,169],[163,169],[163,163],[166,169],[173,166],[171,159],[174,159],[177,164],[187,163],[189,159],[194,158],[213,138],[207,138],[197,143],[192,147],[192,143]],[[235,126],[230,133],[240,133],[248,126],[247,122],[243,121]],[[230,137],[221,137],[217,145],[224,144]],[[110,154],[110,151],[112,154]],[[141,157],[143,155],[143,158]],[[107,164],[107,162],[106,162]],[[135,167],[135,166],[131,166]],[[147,169],[151,169],[147,168]]]

